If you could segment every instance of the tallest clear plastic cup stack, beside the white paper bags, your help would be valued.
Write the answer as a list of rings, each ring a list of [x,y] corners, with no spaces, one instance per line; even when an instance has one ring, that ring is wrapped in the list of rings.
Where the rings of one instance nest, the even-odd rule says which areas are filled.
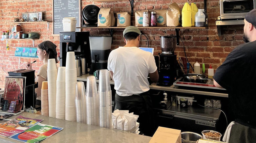
[[[109,71],[99,71],[99,126],[109,128],[112,126],[112,96],[109,81]]]

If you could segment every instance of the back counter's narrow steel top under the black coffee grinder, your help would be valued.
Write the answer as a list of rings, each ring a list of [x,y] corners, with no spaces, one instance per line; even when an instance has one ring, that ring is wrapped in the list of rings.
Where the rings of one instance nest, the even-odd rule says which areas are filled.
[[[77,76],[77,80],[79,80],[79,81],[87,81],[87,77],[88,76],[93,76],[93,75],[84,74],[82,76]],[[99,82],[99,80],[96,80],[96,82]],[[114,85],[115,82],[113,80],[110,80],[110,84]],[[155,90],[173,91],[173,92],[181,92],[181,93],[209,95],[209,96],[218,96],[218,97],[228,97],[228,94],[226,94],[226,93],[182,89],[182,88],[176,87],[174,85],[172,85],[170,87],[160,87],[160,86],[157,86],[156,83],[153,83],[153,84],[151,84],[149,86],[149,88],[150,89],[155,89]]]

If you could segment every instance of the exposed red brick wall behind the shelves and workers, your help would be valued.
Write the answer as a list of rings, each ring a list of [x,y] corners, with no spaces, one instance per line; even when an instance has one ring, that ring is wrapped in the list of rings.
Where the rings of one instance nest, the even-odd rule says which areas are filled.
[[[114,13],[119,11],[131,11],[131,6],[128,0],[117,2],[93,2],[92,0],[81,0],[82,8],[89,4],[95,4],[99,8],[113,8]],[[53,0],[1,0],[0,1],[0,31],[10,30],[14,18],[21,18],[24,12],[43,12],[44,21],[52,21],[52,2]],[[134,10],[154,10],[167,9],[168,5],[176,2],[182,9],[185,2],[195,2],[199,9],[203,9],[203,0],[135,0]],[[218,36],[215,21],[220,16],[219,0],[207,0],[207,15],[209,26],[207,29],[181,29],[180,36],[184,42],[186,55],[188,60],[193,65],[196,61],[205,64],[207,69],[210,64],[216,69],[220,66],[225,57],[239,44],[243,43],[243,25],[223,26],[222,36]],[[132,24],[135,25],[134,16]],[[40,39],[35,40],[35,47],[44,40],[51,40],[57,45],[59,51],[59,36],[53,36],[53,24],[50,24],[50,29],[47,30],[47,24],[22,24],[22,31],[25,33],[38,32]],[[109,36],[108,29],[82,29],[82,31],[90,31],[93,36],[103,35]],[[123,29],[114,29],[112,49],[120,45],[124,45],[122,38]],[[149,47],[155,48],[154,55],[161,52],[159,36],[175,34],[175,30],[163,32],[163,29],[141,29],[141,32],[147,35],[149,39]],[[146,47],[147,40],[142,36],[140,42],[141,47]],[[7,71],[16,70],[19,66],[19,58],[9,57],[14,55],[16,47],[32,47],[32,40],[9,40],[10,50],[6,50],[6,40],[0,41],[0,87],[4,87],[5,76]],[[178,56],[184,57],[183,45],[176,47],[175,53]],[[35,59],[21,58],[20,62],[33,61]],[[43,63],[37,59],[33,64],[33,69],[38,71]],[[206,70],[207,72],[207,70]]]

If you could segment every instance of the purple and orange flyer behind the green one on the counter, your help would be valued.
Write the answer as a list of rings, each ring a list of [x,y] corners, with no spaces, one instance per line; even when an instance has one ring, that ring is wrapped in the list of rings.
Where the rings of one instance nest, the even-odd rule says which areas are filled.
[[[30,119],[30,118],[19,116],[1,125],[0,131],[10,132],[10,133],[22,133],[23,131],[31,128],[32,126],[38,124],[41,121],[42,120],[40,119]]]

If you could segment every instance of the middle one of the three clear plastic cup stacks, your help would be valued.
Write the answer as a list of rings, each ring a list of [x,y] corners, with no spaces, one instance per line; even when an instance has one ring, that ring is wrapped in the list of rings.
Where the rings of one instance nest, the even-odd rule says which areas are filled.
[[[87,77],[86,84],[86,123],[89,125],[98,125],[98,93],[95,76]]]

